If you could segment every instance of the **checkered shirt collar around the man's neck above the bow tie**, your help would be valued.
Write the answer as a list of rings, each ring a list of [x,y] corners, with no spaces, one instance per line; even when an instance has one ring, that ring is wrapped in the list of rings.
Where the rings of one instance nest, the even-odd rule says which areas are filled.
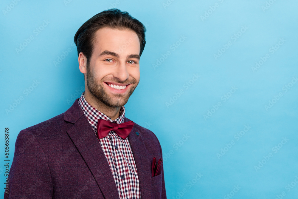
[[[96,108],[92,107],[85,99],[84,97],[84,93],[82,93],[82,95],[80,96],[79,99],[79,105],[81,107],[81,109],[83,110],[84,114],[86,115],[89,123],[91,124],[92,128],[96,131],[97,128],[97,121],[98,119],[103,119],[103,120],[107,120],[110,122],[114,122],[117,124],[121,124],[124,121],[124,115],[125,115],[125,108],[124,106],[122,106],[120,108],[120,112],[119,112],[119,117],[115,120],[112,120],[111,118],[109,118],[108,116],[106,116],[104,113],[100,112],[99,110],[97,110]]]

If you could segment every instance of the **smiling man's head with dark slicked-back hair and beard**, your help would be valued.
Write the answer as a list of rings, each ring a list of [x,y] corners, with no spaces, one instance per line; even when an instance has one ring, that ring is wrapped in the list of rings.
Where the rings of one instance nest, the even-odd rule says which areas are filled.
[[[86,92],[109,107],[127,103],[139,83],[145,31],[141,22],[118,9],[98,13],[79,28],[74,40]]]

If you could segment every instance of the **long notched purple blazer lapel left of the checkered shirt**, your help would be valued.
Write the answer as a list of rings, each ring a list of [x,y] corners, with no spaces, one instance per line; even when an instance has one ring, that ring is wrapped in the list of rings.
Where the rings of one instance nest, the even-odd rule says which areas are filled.
[[[92,127],[78,104],[78,99],[65,112],[64,120],[73,124],[66,132],[85,160],[103,196],[119,198],[111,168]]]

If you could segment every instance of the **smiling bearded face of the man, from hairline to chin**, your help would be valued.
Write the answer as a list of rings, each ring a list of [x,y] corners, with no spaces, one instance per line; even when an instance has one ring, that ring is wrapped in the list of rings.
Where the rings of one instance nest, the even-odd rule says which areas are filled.
[[[107,27],[97,30],[86,74],[91,94],[109,107],[124,106],[139,84],[139,52],[135,32]]]

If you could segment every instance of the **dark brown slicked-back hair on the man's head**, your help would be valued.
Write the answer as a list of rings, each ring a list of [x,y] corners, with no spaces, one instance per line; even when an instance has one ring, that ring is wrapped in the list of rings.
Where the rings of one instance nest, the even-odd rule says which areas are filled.
[[[140,41],[140,56],[145,48],[146,27],[128,12],[122,12],[119,9],[104,10],[86,21],[75,34],[75,44],[77,46],[77,55],[82,52],[87,58],[87,65],[93,52],[94,33],[103,27],[117,28],[120,30],[133,30]]]

